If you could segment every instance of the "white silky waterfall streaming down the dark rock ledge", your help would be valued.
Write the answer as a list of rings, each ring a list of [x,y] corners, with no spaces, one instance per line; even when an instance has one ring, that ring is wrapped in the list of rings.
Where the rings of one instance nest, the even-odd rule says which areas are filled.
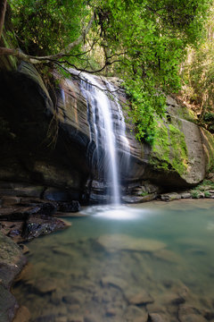
[[[101,79],[85,72],[81,73],[81,79],[80,89],[87,103],[90,143],[95,144],[91,164],[103,173],[104,181],[111,188],[111,203],[119,205],[119,157],[116,153],[119,142],[122,141],[123,148],[129,154],[126,125],[119,99],[113,94],[115,89],[107,80],[104,80],[104,85]],[[118,120],[113,119],[115,108]]]

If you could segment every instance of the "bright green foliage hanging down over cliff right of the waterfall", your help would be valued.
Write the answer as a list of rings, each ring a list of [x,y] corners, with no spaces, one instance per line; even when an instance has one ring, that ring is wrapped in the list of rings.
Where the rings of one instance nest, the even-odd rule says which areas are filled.
[[[210,0],[107,0],[99,4],[103,46],[119,56],[115,72],[132,101],[136,138],[152,143],[156,116],[165,109],[162,92],[180,89],[179,65],[187,45],[202,37]],[[158,93],[158,94],[157,94]]]

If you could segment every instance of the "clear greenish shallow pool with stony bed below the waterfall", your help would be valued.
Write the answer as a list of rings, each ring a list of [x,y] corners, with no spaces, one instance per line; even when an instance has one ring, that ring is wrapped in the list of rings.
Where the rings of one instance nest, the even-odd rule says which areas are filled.
[[[13,292],[31,321],[214,319],[214,200],[83,213],[28,244],[29,266]]]

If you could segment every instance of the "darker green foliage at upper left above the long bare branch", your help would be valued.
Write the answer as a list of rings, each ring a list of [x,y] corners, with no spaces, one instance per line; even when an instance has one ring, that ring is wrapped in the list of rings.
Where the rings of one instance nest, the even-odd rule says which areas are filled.
[[[53,55],[78,38],[84,0],[11,0],[20,47],[30,55]]]

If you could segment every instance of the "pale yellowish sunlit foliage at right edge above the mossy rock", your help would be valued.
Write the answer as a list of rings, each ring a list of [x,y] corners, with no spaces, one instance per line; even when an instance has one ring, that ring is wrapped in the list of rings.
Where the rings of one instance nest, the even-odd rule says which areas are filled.
[[[182,66],[183,97],[196,106],[202,123],[212,122],[208,114],[214,112],[214,5],[210,7],[209,19],[204,26],[206,33],[196,48],[189,48]],[[207,115],[206,115],[207,113]],[[213,122],[208,123],[208,130]],[[212,131],[214,132],[214,131]]]

